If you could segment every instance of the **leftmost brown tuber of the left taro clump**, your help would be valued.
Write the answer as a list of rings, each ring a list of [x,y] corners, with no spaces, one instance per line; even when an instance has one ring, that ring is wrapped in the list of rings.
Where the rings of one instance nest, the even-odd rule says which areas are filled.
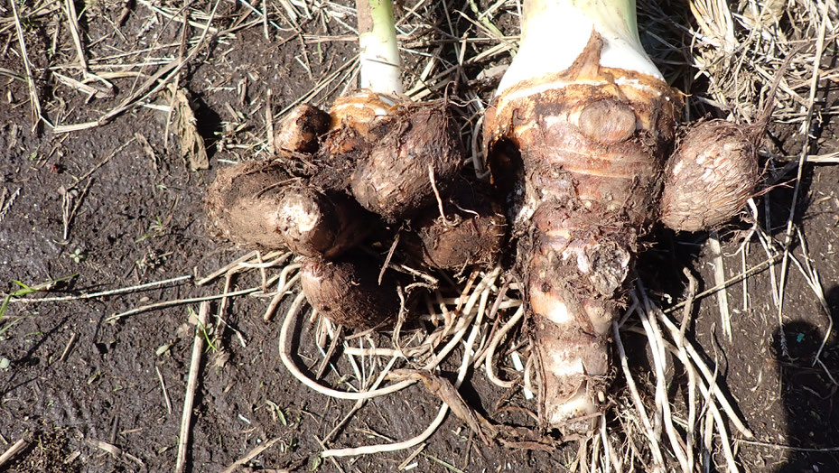
[[[239,245],[285,247],[280,233],[279,201],[290,178],[278,162],[240,162],[219,170],[204,199],[215,236]]]

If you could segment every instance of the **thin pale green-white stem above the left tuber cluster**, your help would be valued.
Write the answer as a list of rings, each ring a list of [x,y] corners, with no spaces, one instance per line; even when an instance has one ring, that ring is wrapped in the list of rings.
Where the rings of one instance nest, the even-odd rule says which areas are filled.
[[[391,0],[359,0],[361,88],[378,94],[403,93],[402,60]]]

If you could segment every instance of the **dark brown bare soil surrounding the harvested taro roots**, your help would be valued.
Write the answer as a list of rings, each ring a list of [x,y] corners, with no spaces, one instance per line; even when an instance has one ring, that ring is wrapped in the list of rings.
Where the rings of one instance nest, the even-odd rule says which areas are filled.
[[[120,23],[124,5],[129,11]],[[219,25],[232,26],[247,13],[237,3],[219,5]],[[209,14],[211,5],[206,6],[204,11]],[[0,2],[0,7],[4,16],[11,16],[7,1]],[[81,27],[89,60],[164,43],[173,46],[128,55],[125,61],[177,57],[180,23],[152,14],[144,3],[103,1],[87,7],[89,14],[83,15]],[[24,25],[43,116],[53,124],[65,125],[97,120],[120,105],[142,79],[130,75],[110,79],[116,85],[113,97],[90,100],[61,84],[45,68],[63,66],[61,73],[76,79],[81,76],[73,69],[78,59],[61,18],[58,13],[36,16]],[[250,16],[247,21],[255,18]],[[197,24],[202,21],[196,20]],[[352,23],[354,18],[347,16],[343,21]],[[324,23],[306,20],[301,27],[305,32],[327,34]],[[2,28],[8,24],[3,23]],[[329,25],[330,34],[350,33],[338,23]],[[14,28],[3,31],[0,68],[23,76]],[[197,38],[200,29],[192,28],[188,36]],[[0,76],[0,89],[5,91],[0,97],[3,292],[22,289],[15,281],[35,286],[61,279],[24,299],[78,296],[182,275],[209,274],[245,254],[210,237],[202,203],[209,182],[231,161],[264,155],[265,150],[253,149],[251,144],[263,141],[266,135],[269,88],[276,112],[309,93],[319,79],[339,69],[355,51],[351,42],[308,42],[303,54],[301,40],[290,29],[270,29],[266,39],[261,22],[232,36],[210,37],[179,79],[179,87],[191,98],[198,131],[207,144],[209,170],[189,170],[174,127],[167,127],[166,113],[155,108],[168,105],[160,99],[148,104],[151,107],[130,108],[107,124],[57,134],[46,125],[33,129],[26,82],[5,73]],[[147,67],[144,73],[152,74],[158,67]],[[477,74],[466,70],[467,75],[472,72]],[[350,77],[339,77],[315,94],[313,101],[328,104],[340,94]],[[829,152],[836,148],[834,133],[839,126],[830,116],[825,120],[817,149]],[[780,131],[775,132],[782,137]],[[786,154],[795,154],[800,148],[792,140],[782,139],[781,144],[785,143]],[[806,254],[819,272],[831,313],[822,311],[797,266],[790,264],[785,311],[780,319],[772,302],[768,271],[748,280],[746,311],[736,309],[742,307],[742,284],[729,290],[731,341],[720,331],[714,297],[698,301],[691,314],[690,333],[712,365],[718,361],[722,384],[755,431],[753,441],[770,444],[739,443],[739,459],[752,471],[839,468],[835,443],[839,413],[833,403],[839,345],[834,337],[827,340],[819,357],[824,366],[813,366],[829,318],[839,312],[839,169],[807,165],[805,178],[795,221],[803,228]],[[791,190],[772,190],[768,201],[769,228],[783,239]],[[66,218],[68,213],[72,218]],[[688,265],[704,282],[699,291],[713,285],[705,236],[663,233],[662,243],[645,257],[651,269],[642,272],[642,277],[650,292],[678,298],[684,291],[681,268],[691,261],[695,262]],[[726,254],[736,251],[737,235],[723,232]],[[794,249],[805,264],[800,257],[803,248]],[[752,243],[747,264],[764,259],[760,246]],[[739,271],[738,261],[739,256],[726,258],[727,275]],[[257,278],[256,274],[234,278],[231,290],[252,287]],[[27,439],[29,446],[9,470],[171,469],[177,456],[192,349],[193,329],[188,320],[190,311],[198,311],[198,304],[145,311],[116,322],[107,319],[148,303],[217,294],[222,285],[196,287],[192,281],[182,281],[91,299],[12,303],[0,320],[0,366],[7,364],[0,368],[0,450],[21,438]],[[353,403],[314,394],[284,369],[278,359],[279,323],[261,317],[266,303],[265,299],[243,296],[224,308],[223,319],[242,338],[228,329],[217,340],[226,349],[210,348],[205,353],[191,424],[191,470],[221,470],[272,439],[278,441],[250,460],[247,468],[396,470],[412,450],[335,461],[319,458],[323,450],[320,439],[350,413]],[[211,311],[219,311],[219,304],[213,304]],[[781,332],[786,335],[788,354],[781,348]],[[298,341],[302,347],[314,346],[308,324]],[[307,366],[320,357],[314,348],[304,349],[305,355],[312,355],[301,357]],[[638,373],[648,376],[644,375],[648,369],[644,353],[639,350],[631,356],[638,361]],[[451,378],[453,371],[454,366],[446,366],[442,375]],[[327,380],[334,383],[337,377]],[[615,389],[621,389],[620,383]],[[495,401],[504,393],[489,385],[484,376],[468,378],[461,394],[495,421],[527,423],[521,414],[496,412]],[[398,396],[378,398],[355,413],[331,445],[369,444],[381,441],[380,435],[399,440],[412,437],[431,422],[438,406],[438,399],[419,385]],[[450,415],[413,461],[418,471],[452,467],[463,471],[564,471],[573,464],[575,454],[573,444],[554,452],[485,447],[463,422]],[[722,459],[716,461],[724,464]]]

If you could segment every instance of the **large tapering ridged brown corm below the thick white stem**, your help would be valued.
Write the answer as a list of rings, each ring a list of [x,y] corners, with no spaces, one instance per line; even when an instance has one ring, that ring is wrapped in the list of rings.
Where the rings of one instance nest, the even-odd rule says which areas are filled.
[[[540,418],[566,438],[596,425],[611,322],[657,216],[681,108],[661,79],[602,67],[602,47],[592,32],[571,67],[504,89],[484,118],[525,275]]]

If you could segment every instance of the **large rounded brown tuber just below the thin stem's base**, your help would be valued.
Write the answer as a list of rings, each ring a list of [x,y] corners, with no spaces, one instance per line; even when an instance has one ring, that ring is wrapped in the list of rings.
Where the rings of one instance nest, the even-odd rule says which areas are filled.
[[[443,102],[396,107],[371,134],[380,138],[352,172],[350,188],[388,223],[432,204],[461,169],[465,152]]]

